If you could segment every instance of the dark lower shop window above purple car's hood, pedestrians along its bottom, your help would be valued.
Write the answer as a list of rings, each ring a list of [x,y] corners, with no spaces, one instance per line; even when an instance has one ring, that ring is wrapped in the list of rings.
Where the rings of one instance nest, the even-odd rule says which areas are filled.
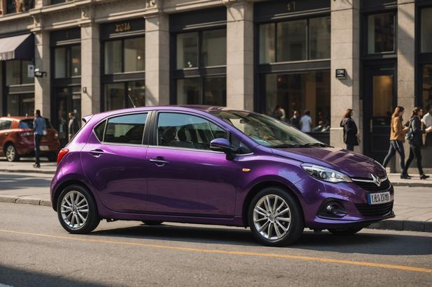
[[[281,106],[290,122],[295,111],[310,111],[312,131],[330,131],[330,71],[279,73],[261,76],[261,94],[265,96],[267,115]]]

